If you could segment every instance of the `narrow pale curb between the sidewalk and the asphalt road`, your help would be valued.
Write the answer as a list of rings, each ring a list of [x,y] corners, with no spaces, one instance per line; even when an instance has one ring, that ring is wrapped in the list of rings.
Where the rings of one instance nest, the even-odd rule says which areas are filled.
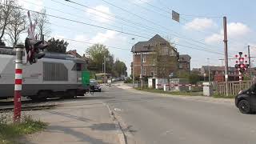
[[[110,113],[110,117],[112,118],[112,120],[114,121],[115,127],[118,131],[118,139],[120,144],[127,144],[127,138],[126,138],[126,134],[124,133],[124,131],[122,130],[122,126],[121,124],[118,122],[118,119],[115,118],[114,116],[114,112],[112,110],[110,110],[110,106],[107,105],[106,103],[104,103],[104,105],[106,105],[107,109],[109,110]]]

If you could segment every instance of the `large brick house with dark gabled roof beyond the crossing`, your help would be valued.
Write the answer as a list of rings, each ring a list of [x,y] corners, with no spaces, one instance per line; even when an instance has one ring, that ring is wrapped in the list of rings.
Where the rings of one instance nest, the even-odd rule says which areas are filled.
[[[178,70],[178,51],[164,38],[156,34],[146,42],[137,42],[131,52],[134,52],[134,62],[131,62],[131,74],[139,77],[168,77]]]

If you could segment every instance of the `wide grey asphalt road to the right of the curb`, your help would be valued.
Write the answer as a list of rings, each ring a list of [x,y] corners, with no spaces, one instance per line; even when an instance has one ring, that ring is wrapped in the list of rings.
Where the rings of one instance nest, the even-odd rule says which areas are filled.
[[[233,103],[202,102],[138,93],[116,86],[100,95],[136,143],[254,144],[256,115],[240,114]],[[128,143],[131,143],[128,139]]]

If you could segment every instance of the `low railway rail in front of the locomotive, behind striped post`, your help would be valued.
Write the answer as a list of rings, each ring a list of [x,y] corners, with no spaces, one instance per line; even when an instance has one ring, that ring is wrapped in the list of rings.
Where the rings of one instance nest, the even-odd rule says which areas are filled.
[[[43,106],[22,106],[22,111],[27,110],[49,110],[53,109],[57,104],[43,105]],[[14,110],[14,107],[0,107],[0,110]]]

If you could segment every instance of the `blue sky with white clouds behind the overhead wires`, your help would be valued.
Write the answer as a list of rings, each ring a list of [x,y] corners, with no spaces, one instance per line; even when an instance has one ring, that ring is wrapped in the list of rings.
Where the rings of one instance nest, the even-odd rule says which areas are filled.
[[[254,38],[254,31],[256,30],[254,6],[256,2],[253,0],[106,0],[115,6],[130,11],[130,13],[111,6],[104,0],[73,1],[102,11],[104,14],[65,0],[20,0],[20,3],[30,10],[38,11],[45,7],[47,14],[146,37],[139,38],[112,30],[49,17],[51,37],[82,41],[67,40],[70,43],[69,50],[78,50],[79,54],[85,53],[90,44],[83,42],[101,42],[106,46],[127,49],[109,48],[110,52],[114,54],[114,58],[126,62],[128,73],[130,73],[130,62],[132,60],[131,46],[134,42],[148,40],[154,34],[159,34],[170,42],[174,42],[180,54],[189,54],[192,57],[191,67],[207,65],[207,58],[210,58],[211,65],[222,66],[223,62],[218,59],[224,57],[222,54],[222,16],[224,15],[228,20],[230,57],[234,57],[234,54],[237,54],[238,51],[247,53],[247,45],[256,46],[256,38]],[[73,8],[69,6],[73,6]],[[171,19],[169,12],[171,10],[181,14],[181,22],[174,22]],[[134,14],[137,16],[134,16]],[[133,23],[123,22],[117,17],[125,18]],[[137,25],[134,25],[134,23],[137,23]],[[145,29],[145,26],[150,28]],[[134,42],[131,38],[135,38]],[[209,51],[221,54],[210,53]],[[252,48],[251,55],[256,56],[255,52],[256,48]],[[233,65],[234,60],[230,60],[230,66]]]

